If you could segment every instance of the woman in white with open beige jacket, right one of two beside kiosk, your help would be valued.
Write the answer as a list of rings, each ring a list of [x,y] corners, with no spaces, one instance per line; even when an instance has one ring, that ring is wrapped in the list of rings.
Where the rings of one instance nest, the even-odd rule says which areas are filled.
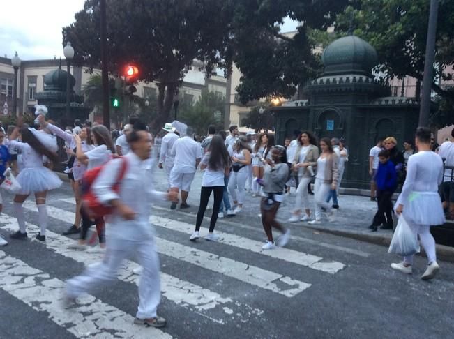
[[[335,218],[335,210],[331,209],[326,198],[329,191],[335,190],[338,185],[338,156],[335,155],[328,137],[320,140],[320,149],[321,155],[317,159],[317,175],[314,183],[315,220],[309,222],[312,225],[321,223],[322,207],[326,209],[329,221],[333,221]]]

